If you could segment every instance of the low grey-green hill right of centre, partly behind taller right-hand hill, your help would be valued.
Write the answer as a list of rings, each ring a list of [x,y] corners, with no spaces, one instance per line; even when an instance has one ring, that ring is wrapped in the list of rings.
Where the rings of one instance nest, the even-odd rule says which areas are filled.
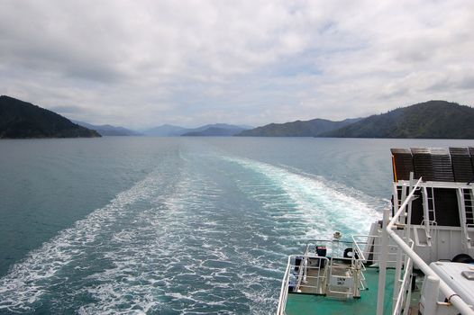
[[[311,121],[292,121],[286,123],[270,123],[263,127],[244,130],[238,136],[246,137],[316,137],[320,134],[342,128],[359,119],[345,121],[328,121],[314,119]]]

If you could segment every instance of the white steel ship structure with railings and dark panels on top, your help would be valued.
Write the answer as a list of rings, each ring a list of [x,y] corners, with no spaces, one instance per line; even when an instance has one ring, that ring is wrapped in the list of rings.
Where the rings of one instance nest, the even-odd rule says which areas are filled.
[[[464,182],[474,174],[474,148],[392,149],[392,158],[391,219],[387,209],[369,236],[344,242],[336,232],[337,239],[310,240],[305,255],[288,257],[278,315],[285,314],[288,291],[359,298],[367,288],[365,265],[378,267],[377,315],[387,305],[387,268],[395,268],[390,272],[395,275],[391,314],[474,315],[474,281],[465,276],[474,272],[474,265],[465,264],[474,262],[474,178]],[[424,182],[422,176],[433,181]],[[311,241],[324,243],[328,255],[314,253]],[[421,292],[416,291],[415,274],[424,280]]]

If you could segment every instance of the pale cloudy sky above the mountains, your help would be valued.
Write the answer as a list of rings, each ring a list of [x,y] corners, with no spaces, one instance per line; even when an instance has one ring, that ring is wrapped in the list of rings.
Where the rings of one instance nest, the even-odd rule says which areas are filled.
[[[474,105],[474,1],[0,0],[0,94],[143,130]]]

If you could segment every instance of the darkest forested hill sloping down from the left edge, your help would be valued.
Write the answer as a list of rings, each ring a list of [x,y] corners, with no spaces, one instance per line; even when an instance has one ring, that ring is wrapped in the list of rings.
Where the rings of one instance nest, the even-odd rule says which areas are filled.
[[[13,97],[0,96],[0,139],[100,137],[56,112]]]

